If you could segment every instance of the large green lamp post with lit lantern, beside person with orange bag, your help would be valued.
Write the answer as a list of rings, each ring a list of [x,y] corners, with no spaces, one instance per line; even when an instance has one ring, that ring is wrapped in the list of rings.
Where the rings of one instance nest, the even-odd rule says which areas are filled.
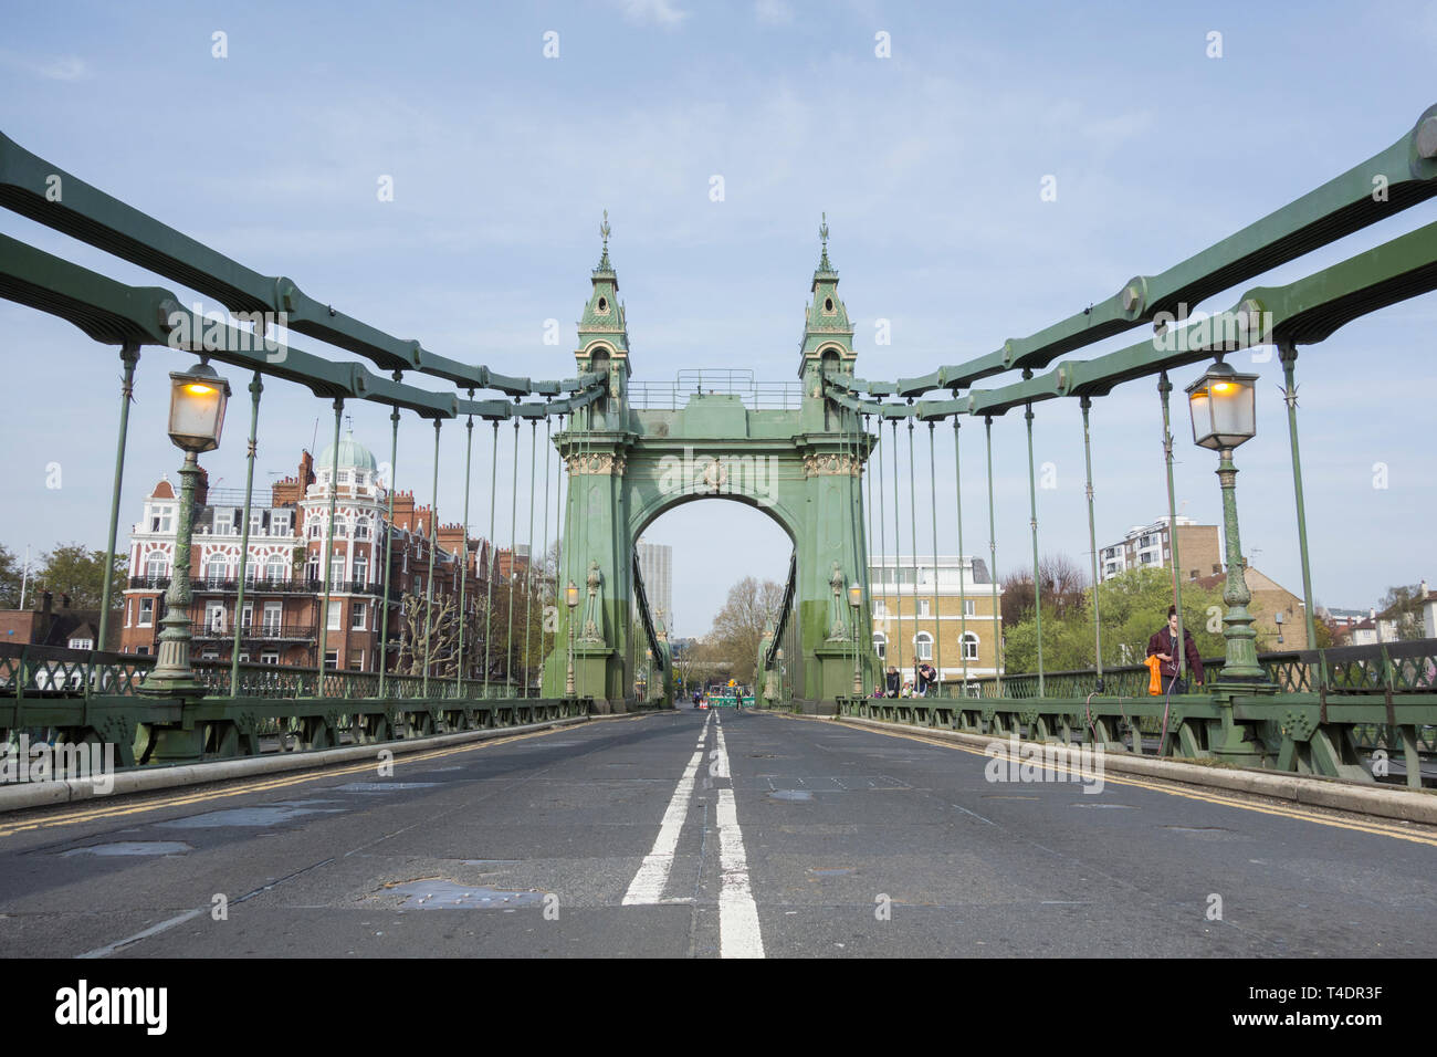
[[[1223,488],[1223,529],[1227,557],[1227,584],[1223,587],[1223,639],[1227,656],[1220,683],[1266,685],[1267,674],[1257,663],[1257,633],[1247,611],[1247,562],[1237,535],[1237,467],[1233,449],[1257,433],[1256,374],[1237,374],[1221,358],[1201,378],[1187,387],[1187,406],[1193,416],[1193,441],[1219,453],[1217,480]],[[1183,649],[1181,646],[1178,649]]]

